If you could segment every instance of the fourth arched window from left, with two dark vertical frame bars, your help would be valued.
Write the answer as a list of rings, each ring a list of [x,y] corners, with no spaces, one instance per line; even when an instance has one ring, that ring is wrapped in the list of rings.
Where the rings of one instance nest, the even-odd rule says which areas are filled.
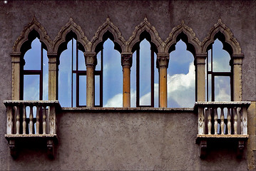
[[[140,34],[140,41],[132,49],[133,66],[130,68],[131,107],[158,107],[158,80],[156,53],[158,50],[151,42],[146,31]]]

